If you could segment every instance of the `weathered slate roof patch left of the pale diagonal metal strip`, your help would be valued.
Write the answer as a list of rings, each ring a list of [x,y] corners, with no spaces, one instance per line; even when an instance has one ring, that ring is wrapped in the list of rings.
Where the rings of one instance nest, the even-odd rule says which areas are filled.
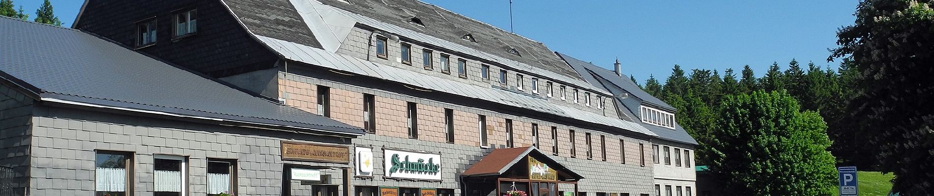
[[[289,0],[221,0],[249,32],[321,48]]]

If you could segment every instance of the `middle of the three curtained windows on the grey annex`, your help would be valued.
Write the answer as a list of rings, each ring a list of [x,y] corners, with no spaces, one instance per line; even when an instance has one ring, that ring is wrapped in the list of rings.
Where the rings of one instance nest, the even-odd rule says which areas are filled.
[[[153,195],[188,195],[188,157],[152,155]]]

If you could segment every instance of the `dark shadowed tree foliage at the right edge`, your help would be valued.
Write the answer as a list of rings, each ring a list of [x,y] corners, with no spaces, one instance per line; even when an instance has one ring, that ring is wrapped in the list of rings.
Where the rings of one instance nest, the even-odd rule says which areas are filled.
[[[934,192],[934,9],[932,2],[866,0],[838,33],[828,59],[849,57],[860,74],[849,122],[895,173],[901,195]]]

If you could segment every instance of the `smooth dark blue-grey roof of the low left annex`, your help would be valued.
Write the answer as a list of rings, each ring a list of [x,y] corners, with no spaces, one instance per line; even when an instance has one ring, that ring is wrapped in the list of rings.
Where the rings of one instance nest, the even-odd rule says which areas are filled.
[[[254,97],[89,33],[0,17],[0,77],[41,98],[341,135],[363,130]]]

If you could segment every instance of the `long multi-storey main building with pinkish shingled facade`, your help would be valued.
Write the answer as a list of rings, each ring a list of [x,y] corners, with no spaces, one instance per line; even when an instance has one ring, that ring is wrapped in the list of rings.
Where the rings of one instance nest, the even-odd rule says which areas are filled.
[[[332,176],[351,189],[292,180],[284,195],[654,192],[658,135],[620,119],[614,94],[542,43],[441,7],[87,1],[73,28],[366,130],[352,176]]]

